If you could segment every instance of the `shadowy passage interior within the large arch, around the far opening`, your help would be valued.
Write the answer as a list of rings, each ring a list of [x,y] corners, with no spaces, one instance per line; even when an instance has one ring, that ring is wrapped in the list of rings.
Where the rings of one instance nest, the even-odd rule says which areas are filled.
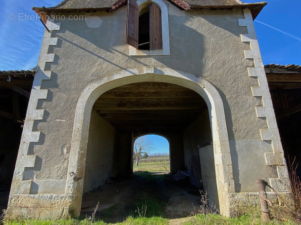
[[[166,179],[152,180],[142,187],[137,187],[137,182],[133,180],[134,142],[137,137],[150,133],[164,136],[169,141],[168,179],[172,179],[169,186]],[[182,172],[189,176],[175,179],[174,176]],[[152,196],[165,197],[162,202],[171,206],[164,207],[164,212],[158,216],[169,219],[186,217],[193,210],[192,203],[197,205],[200,201],[199,190],[203,185],[211,189],[211,199],[218,205],[215,179],[209,112],[204,99],[195,91],[171,83],[138,82],[108,90],[94,103],[87,145],[82,215],[93,212],[99,200],[102,204],[99,217],[108,222],[112,222],[112,218],[120,221],[131,213],[131,207],[135,210],[142,207],[135,208],[136,202],[132,200],[137,198],[132,194],[156,186],[158,190],[151,192]],[[177,192],[178,189],[172,188],[179,186],[184,191],[179,194],[182,198],[164,194]],[[194,187],[194,190],[188,187]],[[123,209],[127,215],[113,213],[107,219],[105,214],[108,209],[113,212]]]

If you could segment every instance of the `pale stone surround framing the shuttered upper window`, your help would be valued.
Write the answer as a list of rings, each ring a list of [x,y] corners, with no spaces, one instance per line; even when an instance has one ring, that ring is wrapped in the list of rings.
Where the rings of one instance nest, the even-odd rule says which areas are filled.
[[[169,26],[168,26],[168,9],[167,5],[162,0],[136,0],[139,11],[146,7],[146,4],[155,3],[161,9],[161,25],[162,25],[162,49],[156,50],[141,50],[138,49],[136,43],[133,46],[129,43],[129,55],[131,56],[144,56],[144,55],[170,55],[169,48]],[[129,24],[127,25],[127,27]],[[136,29],[138,32],[138,29]],[[128,29],[127,29],[128,31]],[[127,33],[128,37],[128,33]],[[130,39],[130,38],[129,38]],[[128,43],[128,39],[127,39]],[[137,42],[138,43],[138,42]]]

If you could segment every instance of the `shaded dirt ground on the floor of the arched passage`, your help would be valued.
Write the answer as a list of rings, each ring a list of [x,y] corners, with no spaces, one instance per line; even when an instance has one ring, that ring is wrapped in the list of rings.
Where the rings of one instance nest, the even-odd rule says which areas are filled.
[[[139,216],[135,210],[137,207],[141,210],[143,204],[148,207],[150,196],[161,202],[158,207],[162,207],[162,210],[159,215],[150,215],[152,209],[147,208],[147,216],[186,218],[195,210],[198,211],[200,205],[200,192],[189,180],[176,181],[168,174],[148,173],[147,176],[134,175],[133,178],[104,184],[99,190],[85,193],[81,216],[90,217],[100,202],[96,218],[107,223],[122,222],[130,215]],[[149,204],[151,207],[152,204]]]

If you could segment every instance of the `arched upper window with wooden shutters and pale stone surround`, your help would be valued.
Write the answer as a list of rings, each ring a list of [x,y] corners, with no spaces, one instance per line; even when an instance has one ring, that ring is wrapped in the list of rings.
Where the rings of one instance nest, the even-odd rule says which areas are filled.
[[[170,54],[168,10],[162,0],[128,0],[126,43],[130,55]]]

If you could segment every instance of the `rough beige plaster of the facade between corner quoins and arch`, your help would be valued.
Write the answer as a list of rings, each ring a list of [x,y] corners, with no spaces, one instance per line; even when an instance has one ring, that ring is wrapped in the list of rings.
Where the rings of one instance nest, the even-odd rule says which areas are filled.
[[[243,18],[242,10],[194,10],[169,15],[170,56],[153,57],[128,55],[122,22],[126,21],[125,7],[93,16],[101,19],[100,27],[90,28],[86,21],[63,20],[57,21],[61,23],[59,31],[52,31],[51,37],[58,38],[57,45],[48,50],[54,53],[54,61],[45,66],[52,71],[51,79],[41,84],[41,89],[49,91],[47,99],[38,101],[38,109],[45,109],[45,116],[33,127],[42,133],[39,142],[29,149],[43,159],[43,166],[29,169],[26,179],[66,179],[77,96],[95,79],[106,79],[117,70],[153,66],[202,76],[214,83],[223,99],[229,139],[260,140],[258,130],[266,123],[254,111],[261,101],[251,95],[251,86],[257,81],[246,69],[251,61],[243,57],[243,50],[249,46],[239,37],[246,32],[237,22]],[[63,154],[61,149],[66,149]]]

